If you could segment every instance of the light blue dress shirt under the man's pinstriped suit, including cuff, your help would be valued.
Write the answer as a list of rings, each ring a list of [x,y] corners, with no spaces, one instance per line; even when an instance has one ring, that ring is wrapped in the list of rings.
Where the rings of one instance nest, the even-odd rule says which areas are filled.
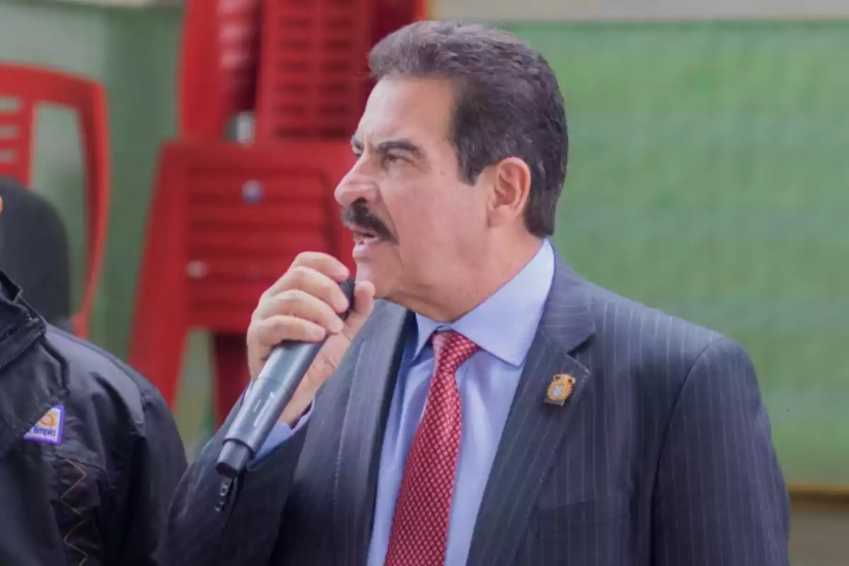
[[[554,249],[546,240],[516,277],[459,320],[442,323],[416,315],[417,332],[408,338],[403,352],[380,452],[368,566],[385,562],[404,465],[424,414],[434,369],[430,336],[437,330],[449,329],[480,347],[457,371],[463,434],[448,524],[446,564],[466,563],[486,478],[553,278]],[[312,408],[295,430],[308,421],[310,414]],[[278,423],[258,458],[293,433],[293,429]]]

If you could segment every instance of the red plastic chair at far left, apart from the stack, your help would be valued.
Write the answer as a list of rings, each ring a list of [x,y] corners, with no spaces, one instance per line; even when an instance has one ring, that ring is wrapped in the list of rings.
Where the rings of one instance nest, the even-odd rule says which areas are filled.
[[[109,143],[106,95],[97,82],[58,70],[0,64],[0,176],[30,186],[32,126],[37,104],[76,111],[86,179],[86,275],[74,331],[87,338],[104,259],[109,214]]]

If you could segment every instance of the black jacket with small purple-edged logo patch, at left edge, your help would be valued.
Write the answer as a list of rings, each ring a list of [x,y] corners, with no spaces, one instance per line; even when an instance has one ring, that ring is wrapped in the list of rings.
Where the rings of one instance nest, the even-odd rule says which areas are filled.
[[[0,566],[164,564],[185,468],[159,392],[0,272]]]

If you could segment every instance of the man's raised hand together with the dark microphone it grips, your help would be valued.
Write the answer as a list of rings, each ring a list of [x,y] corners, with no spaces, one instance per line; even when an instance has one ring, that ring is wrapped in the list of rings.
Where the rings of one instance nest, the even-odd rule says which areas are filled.
[[[287,370],[284,361],[301,363],[303,368],[305,361],[309,363],[308,360],[315,356],[303,378],[300,375],[284,376],[290,384],[293,378],[300,381],[288,403],[281,407],[282,412],[275,415],[279,422],[290,426],[306,411],[318,389],[339,366],[351,345],[351,339],[363,326],[374,306],[374,285],[368,282],[357,283],[353,292],[353,305],[349,305],[346,294],[340,288],[340,284],[348,277],[347,267],[334,257],[306,252],[298,255],[289,271],[262,294],[248,328],[248,363],[252,380],[268,378],[269,381],[251,385],[249,395],[228,429],[217,466],[222,474],[230,477],[238,474],[246,460],[254,455],[252,452],[258,448],[250,445],[256,445],[259,437],[264,440],[267,435],[267,430],[261,430],[267,429],[267,426],[258,424],[268,421],[267,409],[273,405],[273,396],[276,394],[274,389],[278,388],[272,380],[279,377],[274,373]],[[344,322],[340,318],[343,313],[347,314]],[[301,343],[302,346],[304,343],[319,343],[323,340],[318,353],[314,349],[291,344]],[[284,349],[275,349],[281,343],[288,345]],[[271,370],[273,374],[262,376],[266,361],[269,365],[266,373]],[[263,392],[261,396],[266,401],[257,397],[260,392]],[[268,424],[273,424],[273,421]],[[250,437],[250,441],[245,443],[247,437]],[[240,441],[233,442],[234,438]],[[246,450],[245,445],[250,446],[250,450]]]

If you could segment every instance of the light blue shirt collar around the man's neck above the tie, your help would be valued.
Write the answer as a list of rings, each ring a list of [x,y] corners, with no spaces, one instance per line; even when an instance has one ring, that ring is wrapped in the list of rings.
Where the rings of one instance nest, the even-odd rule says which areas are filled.
[[[502,361],[519,367],[537,333],[554,278],[554,249],[543,240],[537,254],[515,277],[454,322],[416,314],[417,358],[436,330],[454,330]]]

